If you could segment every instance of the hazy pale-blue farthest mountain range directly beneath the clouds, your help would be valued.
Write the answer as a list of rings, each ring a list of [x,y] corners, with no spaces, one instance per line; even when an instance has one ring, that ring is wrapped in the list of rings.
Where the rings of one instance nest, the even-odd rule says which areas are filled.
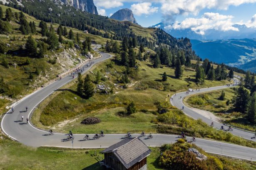
[[[209,29],[205,31],[204,35],[196,34],[191,29],[165,29],[163,22],[153,25],[152,27],[158,27],[164,29],[167,33],[174,37],[181,38],[187,37],[189,39],[199,39],[199,40],[216,40],[216,39],[251,39],[256,38],[256,29],[252,27],[246,27],[246,25],[234,24],[233,27],[239,29],[237,31],[219,31],[215,29]]]

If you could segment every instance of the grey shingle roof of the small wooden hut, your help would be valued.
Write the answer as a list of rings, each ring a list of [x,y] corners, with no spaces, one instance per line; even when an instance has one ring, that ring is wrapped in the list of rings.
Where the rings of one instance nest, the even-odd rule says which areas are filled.
[[[147,157],[151,150],[139,138],[130,138],[124,139],[102,151],[102,153],[109,152],[113,152],[125,168],[128,169]]]

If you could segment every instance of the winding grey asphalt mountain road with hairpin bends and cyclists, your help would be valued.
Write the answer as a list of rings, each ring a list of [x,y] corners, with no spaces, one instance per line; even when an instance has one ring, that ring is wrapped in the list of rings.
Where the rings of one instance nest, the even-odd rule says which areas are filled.
[[[95,49],[97,48],[99,48],[99,46],[97,46]],[[89,68],[91,68],[94,64],[104,61],[111,57],[111,55],[108,53],[99,53],[102,55],[102,57],[95,59],[91,66],[85,67],[84,72],[89,70]],[[77,74],[75,75],[75,78],[76,77]],[[2,131],[10,138],[32,147],[52,146],[64,148],[106,148],[114,143],[121,141],[124,137],[124,134],[105,134],[105,137],[103,138],[88,141],[83,140],[85,134],[74,134],[74,141],[67,141],[65,140],[65,138],[67,138],[67,134],[54,133],[53,135],[49,135],[47,131],[37,129],[34,126],[32,126],[30,121],[28,124],[25,123],[26,118],[31,117],[31,114],[34,111],[35,107],[40,102],[42,102],[42,100],[44,100],[46,97],[55,92],[55,90],[69,83],[72,80],[72,75],[67,75],[63,77],[61,80],[56,80],[50,85],[47,85],[46,87],[43,87],[42,89],[33,92],[32,94],[20,100],[20,102],[18,102],[14,106],[15,111],[13,113],[7,113],[3,116],[1,121]],[[202,89],[200,90],[200,92],[207,90],[216,90],[221,88],[224,88],[224,86],[212,87],[205,90]],[[186,92],[178,93],[176,97],[181,96],[181,98],[183,98],[185,96],[184,93]],[[178,108],[182,107],[183,104],[181,102],[181,99],[178,99],[176,97],[173,97],[174,100],[172,101],[172,103]],[[25,112],[25,107],[28,107],[27,112]],[[187,107],[185,107],[184,112],[186,112],[186,114],[195,119],[200,118],[206,123],[211,123],[211,120],[201,117],[197,113],[191,112]],[[20,121],[22,115],[24,117],[24,122]],[[217,123],[216,125],[219,126],[219,124]],[[239,131],[234,130],[233,133],[239,136],[243,136],[244,138],[250,137],[250,135],[246,134],[245,132],[240,133]],[[139,136],[139,134],[132,134],[132,137],[135,136]],[[92,138],[93,135],[91,134],[89,135],[89,137]],[[147,146],[161,146],[164,143],[174,143],[177,140],[177,138],[178,137],[175,135],[167,134],[153,134],[152,139],[147,139],[147,137],[141,137],[142,141]],[[218,141],[211,141],[200,138],[197,138],[195,143],[196,145],[203,148],[206,152],[209,153],[216,153],[220,155],[227,155],[231,157],[256,161],[256,149],[254,148],[248,148],[244,146],[238,146],[229,143],[222,143]]]

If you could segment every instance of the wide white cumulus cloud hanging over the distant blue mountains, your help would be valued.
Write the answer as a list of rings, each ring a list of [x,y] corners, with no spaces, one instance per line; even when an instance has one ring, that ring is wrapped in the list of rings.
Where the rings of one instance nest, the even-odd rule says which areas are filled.
[[[204,35],[208,29],[220,31],[239,31],[233,27],[234,24],[231,15],[220,15],[219,13],[206,12],[201,18],[186,18],[181,23],[174,22],[172,25],[165,27],[166,29],[191,29],[197,34]]]

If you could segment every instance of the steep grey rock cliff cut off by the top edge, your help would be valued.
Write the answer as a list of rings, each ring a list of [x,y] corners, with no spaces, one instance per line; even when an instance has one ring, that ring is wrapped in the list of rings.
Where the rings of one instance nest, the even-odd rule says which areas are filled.
[[[98,15],[97,7],[94,5],[93,0],[61,0],[66,5],[73,6],[79,10]]]

